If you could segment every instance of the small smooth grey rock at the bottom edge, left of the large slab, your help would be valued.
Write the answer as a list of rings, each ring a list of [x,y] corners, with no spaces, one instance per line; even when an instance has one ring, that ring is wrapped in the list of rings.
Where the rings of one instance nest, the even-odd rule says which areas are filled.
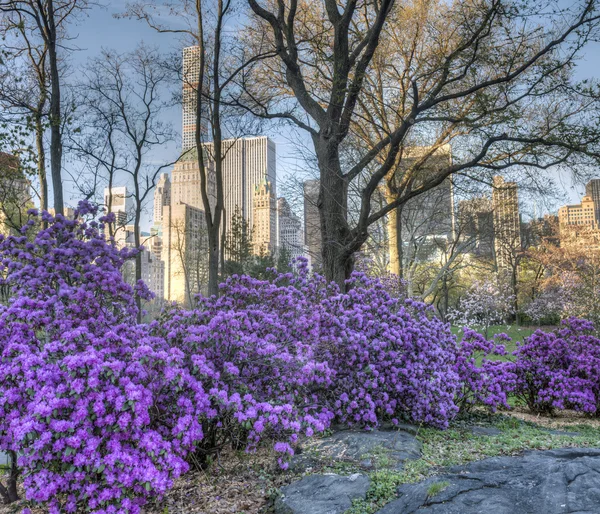
[[[342,514],[368,489],[369,478],[359,473],[306,476],[281,489],[275,514]]]

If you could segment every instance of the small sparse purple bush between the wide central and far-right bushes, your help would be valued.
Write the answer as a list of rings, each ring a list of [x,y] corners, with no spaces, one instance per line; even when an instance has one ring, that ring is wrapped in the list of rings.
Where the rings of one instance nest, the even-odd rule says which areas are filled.
[[[460,380],[456,403],[461,412],[468,412],[476,405],[491,412],[510,408],[508,398],[516,381],[514,363],[493,358],[508,355],[502,341],[508,342],[510,338],[498,334],[490,341],[475,330],[463,329],[455,365]]]

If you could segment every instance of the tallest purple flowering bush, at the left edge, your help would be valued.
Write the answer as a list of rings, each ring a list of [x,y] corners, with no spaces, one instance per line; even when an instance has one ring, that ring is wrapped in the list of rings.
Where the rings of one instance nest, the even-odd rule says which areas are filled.
[[[0,239],[0,449],[18,454],[28,499],[50,512],[139,512],[188,469],[207,395],[183,354],[135,324],[95,209],[31,213]],[[143,287],[137,290],[145,293]],[[9,484],[10,488],[10,484]]]

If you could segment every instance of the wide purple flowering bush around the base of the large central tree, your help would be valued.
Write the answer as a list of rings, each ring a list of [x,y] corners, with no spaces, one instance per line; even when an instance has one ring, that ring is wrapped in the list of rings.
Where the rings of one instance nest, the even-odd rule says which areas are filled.
[[[200,309],[213,316],[260,312],[277,320],[277,330],[285,334],[273,342],[301,363],[310,359],[310,366],[318,366],[323,381],[299,395],[304,412],[319,418],[317,428],[332,419],[376,426],[399,417],[447,426],[457,410],[458,385],[456,340],[448,325],[423,304],[391,297],[364,274],[355,273],[350,285],[341,293],[323,277],[310,275],[306,261],[300,261],[295,274],[274,272],[268,281],[234,276],[218,299],[202,299]],[[294,377],[291,370],[282,373]],[[294,380],[291,385],[296,396]],[[264,386],[270,395],[269,381]],[[315,413],[317,404],[324,410]]]

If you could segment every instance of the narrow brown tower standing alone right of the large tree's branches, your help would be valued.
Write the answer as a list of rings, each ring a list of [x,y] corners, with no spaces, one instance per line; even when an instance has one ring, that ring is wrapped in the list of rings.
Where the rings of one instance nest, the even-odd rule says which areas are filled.
[[[506,182],[497,175],[493,179],[494,252],[498,270],[509,270],[515,253],[521,249],[521,216],[516,182]]]

